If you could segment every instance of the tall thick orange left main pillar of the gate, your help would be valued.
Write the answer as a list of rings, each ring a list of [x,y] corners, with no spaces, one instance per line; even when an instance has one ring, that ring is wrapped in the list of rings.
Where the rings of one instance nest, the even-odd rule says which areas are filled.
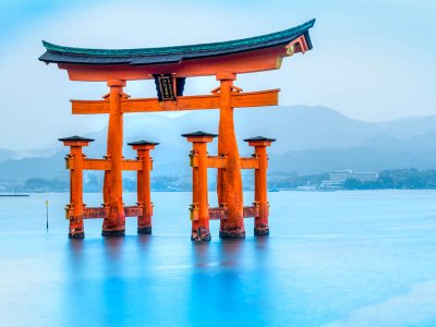
[[[122,202],[122,144],[123,113],[121,112],[122,88],[125,81],[110,80],[109,126],[107,157],[111,160],[111,170],[105,171],[104,201],[109,215],[102,222],[101,235],[123,237],[125,215]]]

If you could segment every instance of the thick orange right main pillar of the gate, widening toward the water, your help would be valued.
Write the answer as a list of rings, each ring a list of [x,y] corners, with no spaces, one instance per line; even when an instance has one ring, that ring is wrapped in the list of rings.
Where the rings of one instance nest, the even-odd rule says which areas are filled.
[[[228,208],[227,219],[220,221],[221,239],[245,238],[241,162],[231,106],[235,78],[231,73],[217,74],[217,80],[220,81],[218,155],[227,156],[227,167],[218,169],[217,175],[218,203]]]

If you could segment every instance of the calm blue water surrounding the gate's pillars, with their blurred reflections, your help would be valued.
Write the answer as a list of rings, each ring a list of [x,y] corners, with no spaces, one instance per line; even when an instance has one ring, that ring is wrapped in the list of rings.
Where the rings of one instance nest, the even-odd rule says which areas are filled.
[[[245,220],[245,240],[220,241],[214,221],[202,245],[190,193],[153,194],[153,237],[87,220],[74,241],[68,194],[0,197],[0,325],[436,326],[435,191],[269,195],[268,239]]]

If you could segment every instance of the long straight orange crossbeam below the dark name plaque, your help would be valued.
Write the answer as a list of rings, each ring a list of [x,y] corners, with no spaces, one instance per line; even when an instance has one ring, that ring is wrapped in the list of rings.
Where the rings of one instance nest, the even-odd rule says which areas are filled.
[[[277,106],[280,89],[259,92],[232,93],[231,106],[233,108]],[[158,112],[219,109],[220,96],[201,95],[178,97],[177,101],[159,102],[157,98],[122,99],[122,112]],[[73,114],[109,113],[109,100],[71,100]]]

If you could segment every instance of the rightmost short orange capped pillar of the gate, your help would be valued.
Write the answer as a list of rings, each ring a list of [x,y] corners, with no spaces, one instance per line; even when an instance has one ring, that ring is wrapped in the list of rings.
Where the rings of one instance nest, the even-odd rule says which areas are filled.
[[[268,186],[266,171],[268,169],[268,156],[266,147],[270,146],[276,140],[257,136],[246,138],[250,146],[254,146],[254,156],[258,160],[258,167],[254,172],[254,201],[259,206],[259,216],[254,219],[254,235],[269,235],[268,216]]]

